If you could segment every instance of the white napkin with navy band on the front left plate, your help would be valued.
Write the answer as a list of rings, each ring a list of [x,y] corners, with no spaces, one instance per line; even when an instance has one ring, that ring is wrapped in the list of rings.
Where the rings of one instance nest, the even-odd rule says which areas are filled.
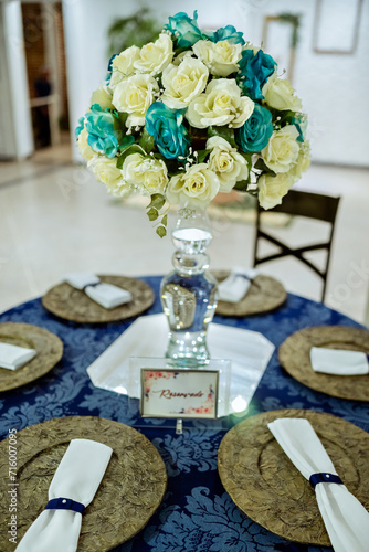
[[[71,440],[50,484],[49,500],[62,498],[67,505],[71,499],[87,507],[104,477],[112,453],[110,447],[95,440]],[[81,524],[82,514],[72,509],[43,510],[15,551],[75,552]]]

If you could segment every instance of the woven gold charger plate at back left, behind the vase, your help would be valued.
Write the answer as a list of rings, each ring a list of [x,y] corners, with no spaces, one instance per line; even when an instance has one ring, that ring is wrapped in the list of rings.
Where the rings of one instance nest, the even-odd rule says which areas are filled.
[[[152,288],[145,282],[126,276],[98,276],[102,282],[122,287],[133,295],[133,300],[114,309],[105,309],[80,289],[63,282],[52,287],[42,298],[42,305],[65,320],[80,323],[116,322],[140,315],[155,300]]]

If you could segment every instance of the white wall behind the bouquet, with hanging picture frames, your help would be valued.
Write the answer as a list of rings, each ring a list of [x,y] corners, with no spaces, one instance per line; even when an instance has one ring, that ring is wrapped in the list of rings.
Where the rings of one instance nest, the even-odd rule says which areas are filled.
[[[313,51],[316,0],[64,0],[71,128],[84,114],[93,89],[104,78],[108,61],[107,29],[115,18],[140,6],[167,22],[178,11],[199,11],[203,28],[233,24],[260,45],[263,18],[282,12],[303,15],[296,52],[294,86],[309,115],[313,158],[320,162],[369,167],[367,97],[369,89],[369,0],[363,0],[358,50],[355,55],[323,55]],[[335,29],[327,29],[335,33]],[[273,55],[273,44],[268,44]]]

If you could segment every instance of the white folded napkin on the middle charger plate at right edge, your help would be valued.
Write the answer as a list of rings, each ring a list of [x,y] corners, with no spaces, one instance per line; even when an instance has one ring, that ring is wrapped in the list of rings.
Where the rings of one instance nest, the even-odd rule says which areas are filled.
[[[369,373],[365,352],[312,347],[310,362],[315,372],[336,375],[362,375]]]

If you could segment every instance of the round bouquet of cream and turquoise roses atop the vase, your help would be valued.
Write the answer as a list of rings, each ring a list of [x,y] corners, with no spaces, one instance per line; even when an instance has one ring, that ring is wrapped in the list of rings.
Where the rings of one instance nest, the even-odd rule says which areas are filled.
[[[162,237],[171,203],[205,208],[232,189],[281,203],[309,167],[306,126],[273,57],[232,25],[201,31],[197,12],[181,12],[155,42],[110,59],[76,138],[109,193],[150,197]]]

